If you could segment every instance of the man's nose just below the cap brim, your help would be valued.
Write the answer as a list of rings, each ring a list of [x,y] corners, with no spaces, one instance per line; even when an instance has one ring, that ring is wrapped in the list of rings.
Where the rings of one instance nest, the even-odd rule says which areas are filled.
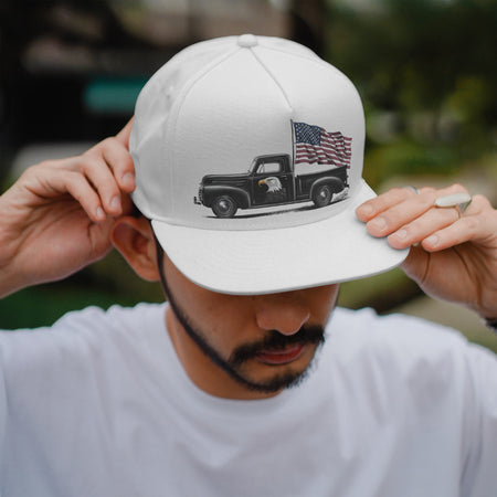
[[[256,300],[255,320],[261,329],[294,335],[309,320],[309,308],[299,292],[263,295]]]

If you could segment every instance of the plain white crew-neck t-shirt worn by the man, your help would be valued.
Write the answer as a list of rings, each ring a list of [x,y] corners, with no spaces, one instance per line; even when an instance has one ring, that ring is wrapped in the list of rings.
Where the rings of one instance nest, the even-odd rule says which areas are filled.
[[[2,497],[497,495],[497,360],[405,316],[336,309],[297,388],[214,398],[163,305],[0,332]]]

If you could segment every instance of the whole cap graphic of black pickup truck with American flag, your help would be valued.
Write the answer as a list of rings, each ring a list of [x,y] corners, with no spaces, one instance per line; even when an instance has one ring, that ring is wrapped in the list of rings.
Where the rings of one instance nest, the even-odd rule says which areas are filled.
[[[322,208],[346,199],[352,139],[293,121],[292,135],[293,157],[257,156],[246,173],[207,175],[194,203],[212,209],[216,218],[234,218],[239,209],[274,207],[271,215],[292,203]]]

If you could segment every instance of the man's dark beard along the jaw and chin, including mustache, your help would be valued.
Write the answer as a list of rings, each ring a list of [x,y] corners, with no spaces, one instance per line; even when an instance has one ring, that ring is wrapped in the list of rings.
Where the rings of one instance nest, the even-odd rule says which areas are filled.
[[[158,246],[159,243],[156,242]],[[293,371],[286,373],[278,373],[268,380],[255,381],[246,378],[241,372],[243,364],[252,359],[255,359],[260,352],[272,350],[285,350],[292,346],[305,345],[322,345],[325,341],[325,330],[321,326],[304,326],[296,334],[283,335],[277,330],[267,331],[266,335],[255,342],[244,343],[236,347],[228,359],[224,359],[215,349],[209,343],[205,334],[193,327],[187,314],[178,306],[172,293],[167,284],[163,272],[163,252],[158,248],[159,273],[160,282],[163,292],[168,298],[169,305],[175,313],[178,321],[183,327],[188,336],[197,343],[202,352],[223,371],[225,371],[239,384],[245,387],[247,390],[260,393],[276,393],[285,388],[292,388],[300,384],[306,377],[309,367],[307,366],[302,371]]]

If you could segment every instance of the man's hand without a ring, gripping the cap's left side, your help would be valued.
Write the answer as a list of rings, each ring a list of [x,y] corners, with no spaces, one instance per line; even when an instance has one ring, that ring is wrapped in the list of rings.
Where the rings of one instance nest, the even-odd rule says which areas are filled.
[[[0,197],[0,296],[61,279],[110,250],[113,218],[130,209],[131,121],[78,157],[29,168]]]

